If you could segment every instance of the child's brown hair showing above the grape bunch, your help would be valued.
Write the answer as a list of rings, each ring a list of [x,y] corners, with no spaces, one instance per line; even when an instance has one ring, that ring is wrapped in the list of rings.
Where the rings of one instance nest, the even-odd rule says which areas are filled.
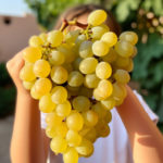
[[[115,18],[113,17],[113,15],[111,14],[111,12],[105,10],[104,8],[102,8],[100,5],[96,5],[96,4],[83,4],[83,5],[77,5],[77,7],[66,10],[64,13],[62,13],[60,15],[54,28],[59,29],[61,27],[63,18],[65,18],[67,21],[72,21],[84,14],[87,14],[87,13],[89,14],[93,10],[98,10],[98,9],[102,9],[108,13],[108,20],[105,23],[110,27],[110,30],[116,33],[116,35],[120,35],[121,27],[120,27],[118,23],[115,21]]]

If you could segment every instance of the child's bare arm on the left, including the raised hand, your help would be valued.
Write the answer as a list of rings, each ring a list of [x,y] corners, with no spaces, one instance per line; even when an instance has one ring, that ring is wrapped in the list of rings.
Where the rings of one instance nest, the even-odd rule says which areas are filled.
[[[42,131],[38,103],[23,88],[20,71],[24,65],[22,52],[7,63],[7,68],[16,86],[15,121],[11,139],[12,163],[45,163]]]

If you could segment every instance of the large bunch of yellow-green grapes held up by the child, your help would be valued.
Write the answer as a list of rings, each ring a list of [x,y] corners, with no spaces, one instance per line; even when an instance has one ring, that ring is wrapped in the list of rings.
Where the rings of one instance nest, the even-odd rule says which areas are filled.
[[[123,103],[138,38],[120,38],[104,24],[106,13],[96,10],[88,24],[66,20],[60,30],[32,36],[23,51],[23,85],[47,113],[50,148],[64,163],[90,156],[93,142],[110,134],[111,109]],[[66,32],[67,26],[80,29]]]

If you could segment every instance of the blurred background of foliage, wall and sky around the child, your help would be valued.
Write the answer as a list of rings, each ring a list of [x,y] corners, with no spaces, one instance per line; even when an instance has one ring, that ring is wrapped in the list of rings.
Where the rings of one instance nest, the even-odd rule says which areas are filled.
[[[5,62],[27,46],[28,38],[52,29],[66,8],[97,3],[110,10],[122,30],[139,36],[138,54],[131,73],[137,89],[160,120],[163,131],[163,0],[5,0],[0,1],[0,159],[10,163],[16,90]]]

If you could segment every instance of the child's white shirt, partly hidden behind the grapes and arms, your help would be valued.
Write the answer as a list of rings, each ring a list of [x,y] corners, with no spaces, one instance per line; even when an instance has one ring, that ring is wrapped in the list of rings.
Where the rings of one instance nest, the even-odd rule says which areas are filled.
[[[142,97],[134,90],[134,93],[140,101],[149,117],[156,124],[155,115],[148,106]],[[114,108],[112,112],[112,122],[109,123],[111,134],[106,138],[99,138],[95,143],[95,152],[90,158],[79,158],[78,163],[134,163],[129,139],[125,126]],[[46,128],[46,114],[41,113],[41,127]],[[48,163],[62,163],[62,155],[54,155],[50,150]]]

